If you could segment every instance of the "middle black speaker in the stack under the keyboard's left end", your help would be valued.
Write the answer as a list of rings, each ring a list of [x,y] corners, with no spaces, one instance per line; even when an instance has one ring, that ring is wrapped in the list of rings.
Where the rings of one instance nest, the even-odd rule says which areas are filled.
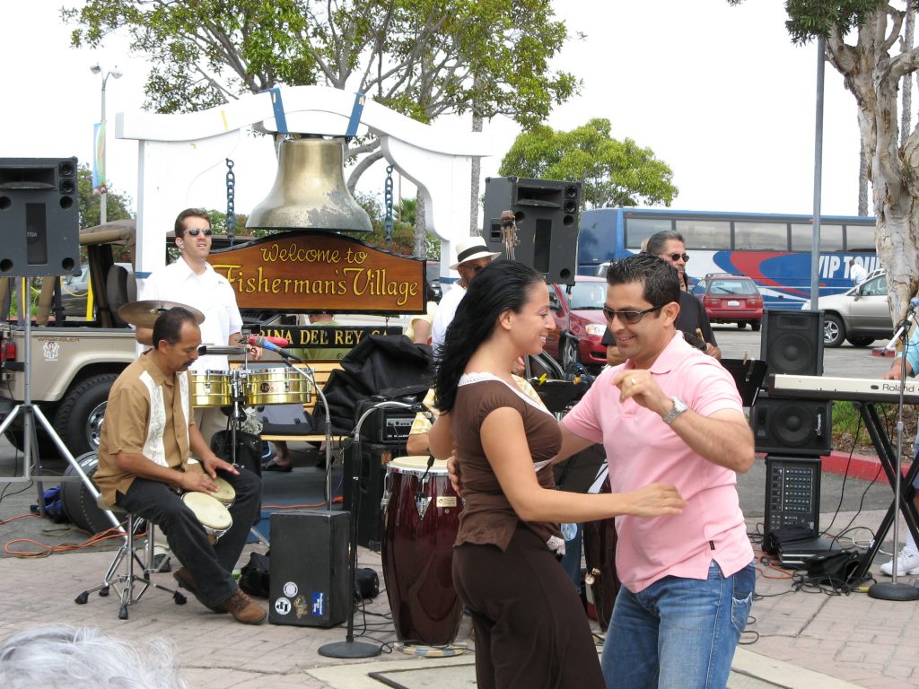
[[[833,401],[781,400],[760,394],[750,409],[757,452],[830,454]]]

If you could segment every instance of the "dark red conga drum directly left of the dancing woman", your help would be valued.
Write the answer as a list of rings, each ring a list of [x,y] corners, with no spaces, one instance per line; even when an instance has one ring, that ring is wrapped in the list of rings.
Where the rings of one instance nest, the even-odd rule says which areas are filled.
[[[453,587],[453,543],[462,502],[447,462],[398,457],[386,467],[380,553],[396,637],[446,646],[459,633],[462,603]]]

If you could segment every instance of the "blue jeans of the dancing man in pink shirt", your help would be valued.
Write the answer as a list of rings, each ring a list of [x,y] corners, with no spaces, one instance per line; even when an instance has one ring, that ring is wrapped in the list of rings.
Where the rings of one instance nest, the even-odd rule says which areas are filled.
[[[753,603],[754,564],[730,577],[664,577],[641,593],[619,591],[603,646],[607,689],[714,689],[731,673]]]

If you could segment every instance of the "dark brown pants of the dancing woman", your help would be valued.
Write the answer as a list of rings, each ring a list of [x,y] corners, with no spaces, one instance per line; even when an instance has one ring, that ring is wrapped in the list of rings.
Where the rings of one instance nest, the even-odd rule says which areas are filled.
[[[517,527],[505,552],[456,548],[453,584],[472,614],[480,689],[604,689],[574,584],[527,527]]]

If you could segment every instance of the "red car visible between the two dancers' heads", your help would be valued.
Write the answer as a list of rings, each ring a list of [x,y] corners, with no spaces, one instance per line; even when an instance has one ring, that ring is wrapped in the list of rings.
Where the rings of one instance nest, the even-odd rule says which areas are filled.
[[[549,300],[555,330],[549,333],[546,352],[563,367],[578,362],[591,373],[599,372],[607,364],[607,348],[600,344],[607,330],[607,319],[603,315],[607,280],[579,275],[574,278],[572,288],[552,284]]]

